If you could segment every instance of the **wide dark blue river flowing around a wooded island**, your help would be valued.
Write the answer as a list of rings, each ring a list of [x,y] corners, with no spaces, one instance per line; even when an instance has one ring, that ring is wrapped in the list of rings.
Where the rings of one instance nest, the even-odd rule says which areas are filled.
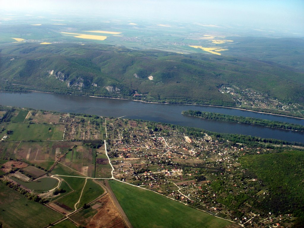
[[[237,133],[261,138],[274,138],[304,143],[304,133],[240,123],[226,123],[182,115],[183,110],[200,110],[223,114],[255,117],[304,125],[304,119],[250,112],[239,109],[205,105],[156,104],[139,101],[95,98],[51,93],[7,93],[0,92],[0,105],[21,108],[43,109],[65,113],[85,113],[129,119],[143,119],[181,126],[198,127],[221,133]]]

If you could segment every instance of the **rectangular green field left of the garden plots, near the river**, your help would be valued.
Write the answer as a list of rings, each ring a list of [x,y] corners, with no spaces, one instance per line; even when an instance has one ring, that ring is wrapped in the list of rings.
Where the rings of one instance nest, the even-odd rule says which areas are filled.
[[[63,131],[59,125],[10,123],[6,129],[12,130],[9,141],[62,140]],[[49,130],[50,129],[50,130]]]

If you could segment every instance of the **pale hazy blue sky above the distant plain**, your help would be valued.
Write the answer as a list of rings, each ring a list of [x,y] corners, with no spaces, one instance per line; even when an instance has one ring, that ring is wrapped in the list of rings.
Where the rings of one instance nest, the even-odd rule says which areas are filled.
[[[0,0],[0,9],[304,29],[304,0]]]

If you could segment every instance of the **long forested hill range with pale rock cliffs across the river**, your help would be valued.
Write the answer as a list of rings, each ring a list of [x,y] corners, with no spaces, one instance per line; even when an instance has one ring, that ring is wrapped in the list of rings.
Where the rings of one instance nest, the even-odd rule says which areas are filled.
[[[304,104],[302,71],[245,57],[62,43],[2,44],[0,51],[2,91],[30,89],[235,106],[229,95],[219,92],[220,86],[227,85]]]

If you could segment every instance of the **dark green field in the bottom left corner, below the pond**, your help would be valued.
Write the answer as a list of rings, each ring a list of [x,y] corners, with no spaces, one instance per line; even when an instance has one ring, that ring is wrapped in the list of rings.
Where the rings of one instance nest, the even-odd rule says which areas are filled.
[[[0,222],[3,227],[41,228],[63,217],[2,183],[0,183],[0,211]]]

